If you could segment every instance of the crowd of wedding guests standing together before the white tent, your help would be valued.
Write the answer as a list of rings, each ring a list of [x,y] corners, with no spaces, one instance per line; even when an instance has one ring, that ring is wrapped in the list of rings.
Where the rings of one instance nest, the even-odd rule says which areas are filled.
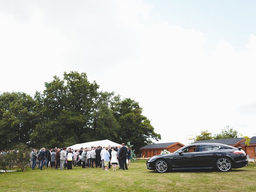
[[[119,166],[121,170],[128,170],[127,166],[131,160],[131,149],[122,146],[92,146],[74,150],[71,148],[41,148],[33,149],[31,152],[30,166],[32,170],[36,167],[43,170],[43,167],[52,169],[72,170],[73,166],[82,166],[82,168],[102,168],[105,171],[111,168],[116,171]]]

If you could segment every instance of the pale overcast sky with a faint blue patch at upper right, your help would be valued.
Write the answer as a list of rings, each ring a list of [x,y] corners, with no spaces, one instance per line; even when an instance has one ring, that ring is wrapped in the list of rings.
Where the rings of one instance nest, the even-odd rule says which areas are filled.
[[[140,103],[162,135],[256,133],[256,2],[0,0],[0,92],[64,71]]]

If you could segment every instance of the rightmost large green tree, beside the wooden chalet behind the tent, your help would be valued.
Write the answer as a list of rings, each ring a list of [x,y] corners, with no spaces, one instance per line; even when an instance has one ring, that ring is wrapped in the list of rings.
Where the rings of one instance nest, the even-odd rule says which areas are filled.
[[[142,108],[138,102],[130,98],[121,100],[120,96],[116,96],[112,102],[112,110],[120,124],[117,142],[130,142],[138,152],[140,147],[152,143],[152,140],[161,139],[161,135],[154,131],[150,120],[142,115]]]

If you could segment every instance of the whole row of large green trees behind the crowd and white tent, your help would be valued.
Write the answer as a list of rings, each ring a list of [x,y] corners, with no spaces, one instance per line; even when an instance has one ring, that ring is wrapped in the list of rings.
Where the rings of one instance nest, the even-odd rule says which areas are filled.
[[[0,94],[0,149],[18,143],[53,148],[109,139],[130,142],[138,152],[160,138],[138,102],[100,91],[85,73],[54,76],[34,98],[24,92]]]

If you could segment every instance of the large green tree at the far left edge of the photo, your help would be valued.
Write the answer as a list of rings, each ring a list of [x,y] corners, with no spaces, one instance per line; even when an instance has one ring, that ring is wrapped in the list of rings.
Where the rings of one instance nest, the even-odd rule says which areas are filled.
[[[18,143],[29,144],[37,124],[35,101],[23,92],[0,94],[0,148],[10,149]]]

